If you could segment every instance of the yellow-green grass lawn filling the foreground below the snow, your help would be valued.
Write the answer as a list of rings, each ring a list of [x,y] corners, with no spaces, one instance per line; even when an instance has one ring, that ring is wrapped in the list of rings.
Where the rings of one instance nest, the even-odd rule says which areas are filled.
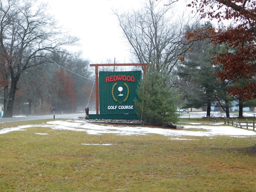
[[[182,139],[187,140],[158,134],[91,135],[40,126],[0,134],[0,191],[256,190],[256,137]]]

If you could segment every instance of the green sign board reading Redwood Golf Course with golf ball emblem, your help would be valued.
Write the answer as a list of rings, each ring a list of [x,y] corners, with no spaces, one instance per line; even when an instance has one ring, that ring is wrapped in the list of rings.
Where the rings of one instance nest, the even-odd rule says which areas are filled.
[[[141,71],[99,72],[100,114],[136,114]]]

